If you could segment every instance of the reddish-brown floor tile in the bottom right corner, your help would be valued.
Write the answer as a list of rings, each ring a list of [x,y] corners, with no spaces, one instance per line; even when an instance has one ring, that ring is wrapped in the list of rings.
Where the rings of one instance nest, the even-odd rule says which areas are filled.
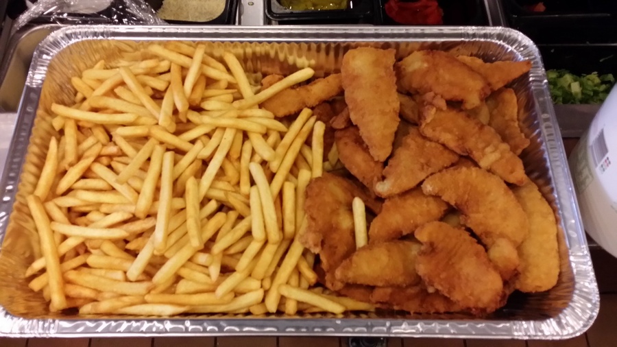
[[[587,332],[590,347],[614,346],[617,340],[615,312],[617,312],[617,294],[601,295],[600,315]]]

